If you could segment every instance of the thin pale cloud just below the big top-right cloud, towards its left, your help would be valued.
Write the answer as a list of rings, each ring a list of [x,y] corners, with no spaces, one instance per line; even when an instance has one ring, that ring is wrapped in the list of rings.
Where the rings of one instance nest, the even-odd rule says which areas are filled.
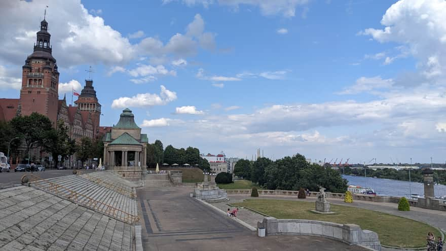
[[[394,81],[392,79],[382,79],[380,76],[372,78],[361,77],[356,80],[356,83],[353,86],[344,89],[338,94],[357,94],[377,89],[389,89],[393,84]]]

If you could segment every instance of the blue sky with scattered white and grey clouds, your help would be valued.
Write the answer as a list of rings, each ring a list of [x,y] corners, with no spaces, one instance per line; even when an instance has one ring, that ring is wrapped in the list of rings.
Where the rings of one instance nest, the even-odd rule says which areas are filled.
[[[46,6],[59,97],[92,66],[101,126],[129,107],[205,154],[446,162],[445,0],[1,1],[0,97]]]

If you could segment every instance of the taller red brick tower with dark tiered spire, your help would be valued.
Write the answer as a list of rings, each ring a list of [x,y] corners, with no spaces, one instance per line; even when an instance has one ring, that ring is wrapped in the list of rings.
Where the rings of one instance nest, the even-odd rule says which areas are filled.
[[[51,34],[48,22],[44,19],[37,32],[34,52],[25,60],[22,67],[22,88],[19,104],[22,115],[33,112],[48,116],[53,125],[57,121],[59,72],[56,59],[51,54]]]

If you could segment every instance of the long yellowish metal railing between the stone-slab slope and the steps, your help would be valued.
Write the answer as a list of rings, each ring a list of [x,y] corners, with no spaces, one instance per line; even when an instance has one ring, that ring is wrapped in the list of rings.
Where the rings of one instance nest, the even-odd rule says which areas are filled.
[[[74,203],[80,203],[83,204],[87,207],[92,208],[93,210],[97,210],[99,212],[105,213],[108,216],[111,216],[117,220],[129,223],[129,224],[133,224],[135,222],[139,221],[139,217],[138,216],[134,216],[126,211],[123,211],[119,208],[116,208],[113,205],[109,205],[103,202],[100,202],[98,200],[95,200],[89,196],[80,194],[76,191],[70,190],[66,187],[63,187],[59,184],[56,183],[52,183],[48,180],[45,180],[39,176],[36,176],[34,174],[25,174],[22,176],[22,184],[29,182],[29,185],[35,186],[35,187],[39,187],[41,189],[47,190],[50,193],[54,193],[58,196],[64,197]],[[46,185],[50,185],[48,186],[44,186],[44,183]]]

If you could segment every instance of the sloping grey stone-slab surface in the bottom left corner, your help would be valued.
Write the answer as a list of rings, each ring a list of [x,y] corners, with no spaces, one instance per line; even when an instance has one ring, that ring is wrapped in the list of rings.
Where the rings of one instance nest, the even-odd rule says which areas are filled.
[[[0,193],[0,250],[135,250],[134,229],[33,187]]]

